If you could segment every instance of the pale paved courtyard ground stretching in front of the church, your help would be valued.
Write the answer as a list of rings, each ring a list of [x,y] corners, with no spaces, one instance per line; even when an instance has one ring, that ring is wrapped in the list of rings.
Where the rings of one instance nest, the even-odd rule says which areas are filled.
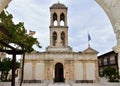
[[[11,83],[0,82],[0,86],[11,86]],[[16,86],[19,86],[18,82],[16,82]],[[120,86],[120,82],[109,83],[105,78],[102,78],[99,83],[23,83],[22,86]]]

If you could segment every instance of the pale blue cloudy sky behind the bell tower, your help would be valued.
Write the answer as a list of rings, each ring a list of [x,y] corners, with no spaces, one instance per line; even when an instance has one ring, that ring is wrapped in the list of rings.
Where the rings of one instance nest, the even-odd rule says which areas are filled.
[[[68,7],[68,45],[79,52],[88,48],[88,33],[91,36],[90,46],[99,52],[107,53],[116,45],[116,36],[104,10],[95,0],[59,0]],[[50,9],[58,0],[12,0],[7,11],[13,15],[15,23],[24,22],[25,28],[36,31],[44,52],[50,43],[49,25]]]

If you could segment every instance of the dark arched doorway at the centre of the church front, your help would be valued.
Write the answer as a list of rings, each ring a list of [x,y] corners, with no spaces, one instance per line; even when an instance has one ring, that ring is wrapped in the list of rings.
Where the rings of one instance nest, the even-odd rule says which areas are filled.
[[[54,82],[64,82],[64,69],[62,63],[55,65],[55,79]]]

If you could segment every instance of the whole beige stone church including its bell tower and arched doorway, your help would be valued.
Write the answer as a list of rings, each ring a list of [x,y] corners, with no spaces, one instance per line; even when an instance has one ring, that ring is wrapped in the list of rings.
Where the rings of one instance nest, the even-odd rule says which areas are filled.
[[[97,82],[97,51],[90,46],[73,52],[68,46],[67,7],[50,7],[50,45],[45,52],[26,54],[24,82]]]

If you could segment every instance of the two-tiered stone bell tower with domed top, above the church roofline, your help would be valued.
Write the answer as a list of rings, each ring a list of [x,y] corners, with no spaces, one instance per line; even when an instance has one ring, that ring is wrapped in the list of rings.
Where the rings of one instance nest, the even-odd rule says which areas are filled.
[[[67,7],[55,3],[50,7],[50,46],[47,51],[72,51],[68,46]]]

